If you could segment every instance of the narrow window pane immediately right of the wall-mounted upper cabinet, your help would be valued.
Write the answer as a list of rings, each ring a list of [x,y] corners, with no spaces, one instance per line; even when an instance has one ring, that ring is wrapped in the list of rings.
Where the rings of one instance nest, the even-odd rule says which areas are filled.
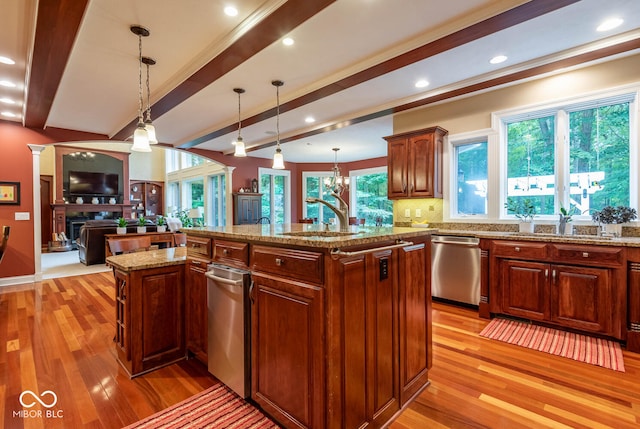
[[[464,215],[487,214],[488,157],[487,141],[455,143],[454,170],[456,195],[452,198],[455,213]]]

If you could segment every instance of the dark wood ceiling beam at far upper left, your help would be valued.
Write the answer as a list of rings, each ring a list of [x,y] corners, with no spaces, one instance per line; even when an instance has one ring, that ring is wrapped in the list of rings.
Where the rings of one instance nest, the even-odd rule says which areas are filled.
[[[29,69],[25,127],[43,129],[88,0],[40,0]]]

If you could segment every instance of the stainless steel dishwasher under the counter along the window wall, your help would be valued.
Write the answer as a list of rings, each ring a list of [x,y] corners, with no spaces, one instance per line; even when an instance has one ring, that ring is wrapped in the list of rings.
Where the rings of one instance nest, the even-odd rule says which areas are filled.
[[[479,244],[475,237],[431,237],[431,296],[480,304]]]

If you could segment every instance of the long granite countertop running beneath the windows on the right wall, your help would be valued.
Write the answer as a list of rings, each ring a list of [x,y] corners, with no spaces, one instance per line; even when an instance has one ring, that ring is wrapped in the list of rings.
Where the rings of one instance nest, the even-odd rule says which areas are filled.
[[[600,246],[640,247],[640,237],[600,237],[596,235],[558,235],[550,233],[520,233],[504,231],[473,231],[438,229],[437,235],[455,235],[498,240],[545,241],[550,243],[589,244]]]

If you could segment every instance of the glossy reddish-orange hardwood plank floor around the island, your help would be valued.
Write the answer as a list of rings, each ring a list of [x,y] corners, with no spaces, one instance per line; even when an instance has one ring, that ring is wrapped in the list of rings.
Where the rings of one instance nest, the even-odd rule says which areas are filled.
[[[1,427],[120,428],[216,382],[194,360],[130,380],[115,359],[113,295],[111,273],[0,289]],[[391,429],[640,425],[638,354],[625,351],[619,373],[480,338],[487,321],[466,309],[434,304],[433,323],[431,385]],[[27,390],[57,403],[25,416]]]

